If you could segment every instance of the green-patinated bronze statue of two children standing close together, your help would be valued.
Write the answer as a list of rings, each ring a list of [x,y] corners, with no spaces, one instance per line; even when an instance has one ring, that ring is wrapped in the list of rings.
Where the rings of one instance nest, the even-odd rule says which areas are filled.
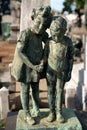
[[[32,115],[40,115],[39,81],[45,65],[50,108],[47,121],[63,123],[65,119],[62,116],[62,94],[65,82],[71,78],[73,65],[72,41],[64,35],[67,22],[61,16],[52,16],[50,6],[34,8],[31,18],[32,26],[18,36],[11,68],[12,76],[21,82],[20,96],[25,120],[29,125],[34,125],[36,122]],[[46,32],[47,28],[50,28],[51,37]],[[32,113],[29,107],[30,86],[33,98]]]

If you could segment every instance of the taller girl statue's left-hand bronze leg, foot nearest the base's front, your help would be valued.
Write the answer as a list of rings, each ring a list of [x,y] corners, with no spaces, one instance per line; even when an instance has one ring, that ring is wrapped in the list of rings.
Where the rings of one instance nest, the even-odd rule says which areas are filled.
[[[21,83],[21,103],[25,113],[25,120],[28,124],[33,125],[35,124],[35,120],[31,117],[30,110],[29,110],[29,89],[27,83]]]

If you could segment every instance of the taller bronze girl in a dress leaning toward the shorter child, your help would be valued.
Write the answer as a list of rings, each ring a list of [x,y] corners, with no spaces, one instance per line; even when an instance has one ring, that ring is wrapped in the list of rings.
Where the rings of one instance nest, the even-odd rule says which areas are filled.
[[[33,24],[31,28],[22,31],[17,40],[11,74],[21,82],[21,103],[28,124],[35,124],[29,109],[29,90],[32,88],[33,112],[39,114],[39,80],[43,70],[43,45],[48,34],[46,29],[51,23],[51,8],[37,7],[32,11]]]

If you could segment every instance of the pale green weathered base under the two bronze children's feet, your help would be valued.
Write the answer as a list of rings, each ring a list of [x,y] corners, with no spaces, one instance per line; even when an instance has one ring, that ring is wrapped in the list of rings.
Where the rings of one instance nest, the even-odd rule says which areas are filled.
[[[29,126],[24,121],[23,110],[20,110],[17,116],[16,130],[82,130],[82,126],[72,109],[63,109],[66,122],[62,124],[56,121],[48,123],[46,121],[48,114],[49,109],[41,109],[41,118],[35,119],[37,124]]]

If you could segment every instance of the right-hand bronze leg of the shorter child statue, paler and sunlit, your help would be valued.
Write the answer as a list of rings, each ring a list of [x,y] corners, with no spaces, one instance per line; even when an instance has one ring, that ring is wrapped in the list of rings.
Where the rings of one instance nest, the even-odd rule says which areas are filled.
[[[57,79],[56,84],[56,120],[63,123],[64,117],[62,116],[62,100],[63,100],[63,89],[65,82],[61,79]]]

